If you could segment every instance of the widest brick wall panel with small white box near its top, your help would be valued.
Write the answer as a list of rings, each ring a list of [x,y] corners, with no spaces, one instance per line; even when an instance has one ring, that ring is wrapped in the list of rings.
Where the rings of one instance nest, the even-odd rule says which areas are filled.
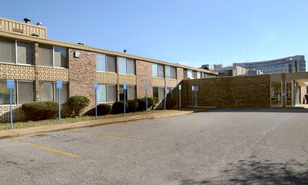
[[[93,82],[96,77],[95,53],[82,50],[68,49],[69,58],[69,96],[80,95],[90,99],[86,110],[95,106]],[[80,52],[80,58],[74,57],[74,52]]]

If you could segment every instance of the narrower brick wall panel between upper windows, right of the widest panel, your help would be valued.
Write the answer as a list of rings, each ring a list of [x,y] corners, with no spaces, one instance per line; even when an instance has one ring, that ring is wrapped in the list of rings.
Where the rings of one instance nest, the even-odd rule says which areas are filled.
[[[148,97],[153,96],[152,63],[136,60],[137,98],[145,97],[145,84],[148,84]]]

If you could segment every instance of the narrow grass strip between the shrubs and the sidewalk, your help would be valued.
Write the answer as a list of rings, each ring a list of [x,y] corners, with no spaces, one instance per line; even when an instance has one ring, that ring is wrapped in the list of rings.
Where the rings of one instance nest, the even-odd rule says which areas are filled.
[[[161,113],[161,112],[164,112],[164,110],[149,110],[148,114]],[[142,115],[142,114],[146,114],[146,112],[145,111],[129,112],[129,113],[126,113],[126,116],[129,117],[133,115]],[[98,119],[109,119],[109,118],[119,118],[119,117],[123,117],[123,113],[102,115],[102,116],[99,116]],[[76,123],[76,122],[83,122],[83,121],[90,121],[90,120],[95,120],[95,117],[81,116],[81,117],[75,117],[75,118],[62,118],[61,123],[59,123],[58,119],[42,120],[42,121],[13,122],[13,128],[16,129],[16,128],[26,128],[26,127],[37,127],[37,126],[43,126],[43,125]],[[11,129],[10,123],[0,123],[0,130],[8,130],[8,129]]]

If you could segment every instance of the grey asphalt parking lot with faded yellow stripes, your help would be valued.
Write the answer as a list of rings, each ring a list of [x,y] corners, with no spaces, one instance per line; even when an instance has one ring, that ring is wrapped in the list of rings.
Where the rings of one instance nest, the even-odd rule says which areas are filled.
[[[307,109],[217,109],[0,140],[0,184],[305,184],[307,162]]]

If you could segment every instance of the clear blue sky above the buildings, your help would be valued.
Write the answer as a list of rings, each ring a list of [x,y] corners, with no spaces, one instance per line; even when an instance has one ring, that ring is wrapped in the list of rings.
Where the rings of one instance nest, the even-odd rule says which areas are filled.
[[[44,2],[44,3],[43,3]],[[305,55],[308,1],[4,1],[50,39],[199,67]]]

